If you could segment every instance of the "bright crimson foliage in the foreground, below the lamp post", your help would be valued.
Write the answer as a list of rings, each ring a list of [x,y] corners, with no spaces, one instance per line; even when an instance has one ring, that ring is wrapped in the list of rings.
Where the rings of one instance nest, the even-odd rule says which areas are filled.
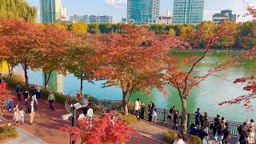
[[[66,126],[61,130],[72,134],[70,140],[81,138],[86,144],[126,143],[130,138],[130,132],[137,131],[128,127],[123,120],[115,118],[115,114],[117,114],[116,111],[111,111],[98,121],[93,121],[92,129],[88,123],[90,119],[82,118],[78,120],[78,127]]]

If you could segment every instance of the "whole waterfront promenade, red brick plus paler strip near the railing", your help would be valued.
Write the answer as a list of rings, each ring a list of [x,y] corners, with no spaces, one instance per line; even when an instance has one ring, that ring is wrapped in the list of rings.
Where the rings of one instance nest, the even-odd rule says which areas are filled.
[[[14,91],[14,90],[12,90]],[[24,101],[18,102],[17,98],[14,98],[14,103],[18,103],[19,106],[24,105]],[[39,99],[38,101],[38,113],[35,114],[34,124],[29,125],[29,115],[25,116],[25,124],[21,125],[23,130],[34,135],[36,138],[41,138],[43,142],[46,143],[69,143],[69,134],[65,134],[59,129],[64,125],[70,125],[69,121],[62,121],[61,115],[67,114],[64,105],[58,102],[54,103],[55,110],[50,110],[50,105],[46,99]],[[7,119],[11,119],[13,113],[6,112],[3,116]],[[98,119],[104,116],[104,114],[98,112],[94,114],[94,119]],[[171,127],[167,126],[166,122],[158,121],[157,124],[152,122],[147,122],[146,120],[139,120],[137,124],[132,126],[134,129],[138,130],[138,134],[131,134],[132,138],[129,139],[127,143],[163,143],[162,136],[166,134]],[[23,141],[27,143],[26,141]],[[236,142],[236,138],[232,138],[230,143]],[[10,142],[9,142],[10,143]],[[214,140],[212,140],[212,143]]]

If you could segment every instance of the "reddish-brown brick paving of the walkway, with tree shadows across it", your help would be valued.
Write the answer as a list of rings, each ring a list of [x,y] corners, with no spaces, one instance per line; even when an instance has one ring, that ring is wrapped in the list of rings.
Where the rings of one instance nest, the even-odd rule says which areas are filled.
[[[14,103],[18,103],[19,107],[23,106],[23,109],[26,109],[23,96],[21,96],[21,98],[22,98],[22,102],[18,102],[17,98],[14,98]],[[64,108],[64,105],[58,102],[54,103],[54,108],[55,110],[50,110],[50,104],[49,102],[46,101],[46,99],[38,99],[38,113],[35,114],[34,124],[33,125],[28,124],[30,121],[30,116],[26,114],[25,124],[21,125],[21,128],[23,130],[26,130],[30,134],[34,135],[35,137],[42,138],[42,141],[44,142],[47,142],[50,144],[55,144],[55,143],[68,144],[70,143],[70,140],[69,140],[70,134],[65,134],[62,131],[60,131],[60,128],[62,128],[63,126],[70,125],[69,121],[61,120],[61,116],[63,114],[67,114],[67,112]],[[13,112],[3,113],[3,117],[7,119],[12,119]],[[12,142],[12,141],[8,141],[8,142]],[[26,143],[31,143],[31,142],[26,142]],[[142,134],[132,134],[132,138],[130,138],[129,142],[127,143],[130,143],[130,144],[156,143],[157,144],[160,142],[154,141],[151,138],[146,138]],[[34,143],[31,143],[31,144],[34,144]]]

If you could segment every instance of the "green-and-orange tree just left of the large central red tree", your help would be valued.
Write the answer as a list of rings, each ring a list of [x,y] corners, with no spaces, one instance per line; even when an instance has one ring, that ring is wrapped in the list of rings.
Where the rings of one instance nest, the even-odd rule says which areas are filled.
[[[88,62],[94,54],[94,43],[92,35],[76,36],[69,42],[70,48],[67,50],[66,69],[80,79],[80,90],[83,90],[83,80],[93,82],[92,79],[94,63]]]

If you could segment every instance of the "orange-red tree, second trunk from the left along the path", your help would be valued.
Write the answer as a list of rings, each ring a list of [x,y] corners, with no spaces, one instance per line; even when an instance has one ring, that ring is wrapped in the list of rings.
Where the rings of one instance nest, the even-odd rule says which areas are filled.
[[[34,63],[34,67],[43,70],[45,89],[47,89],[50,75],[53,72],[58,74],[66,74],[66,58],[69,56],[68,49],[73,34],[69,31],[54,25],[44,26],[44,49],[42,56],[38,58],[38,62]]]

